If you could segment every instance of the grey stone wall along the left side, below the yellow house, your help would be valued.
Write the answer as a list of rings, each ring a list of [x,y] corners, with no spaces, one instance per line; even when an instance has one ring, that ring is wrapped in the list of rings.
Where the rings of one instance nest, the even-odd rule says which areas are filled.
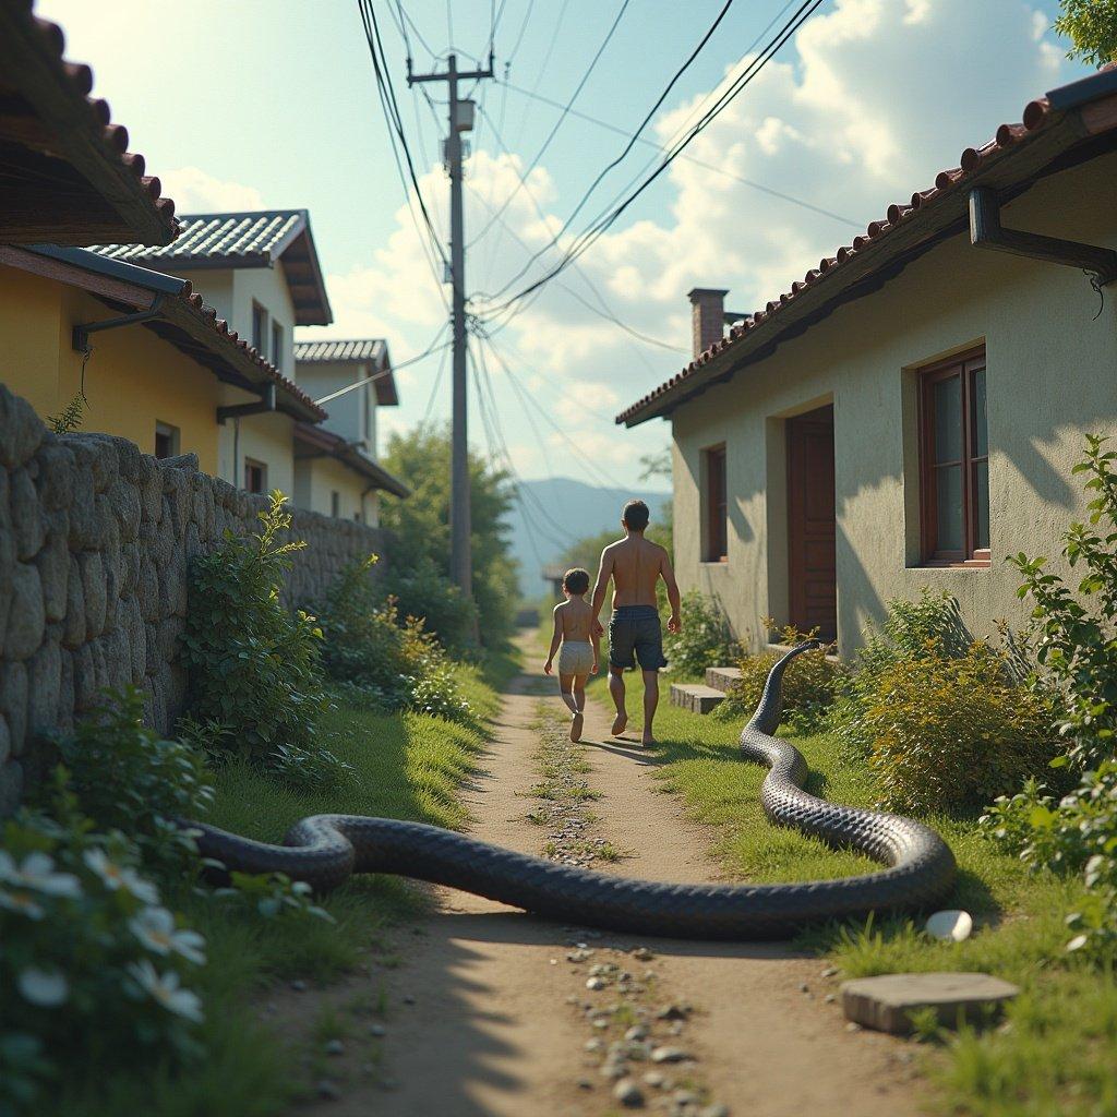
[[[56,437],[0,385],[0,817],[34,767],[32,743],[69,728],[102,688],[134,682],[150,723],[180,713],[190,560],[226,528],[256,529],[264,497],[160,461],[121,438]],[[314,607],[351,558],[385,554],[378,528],[294,512],[287,603]]]

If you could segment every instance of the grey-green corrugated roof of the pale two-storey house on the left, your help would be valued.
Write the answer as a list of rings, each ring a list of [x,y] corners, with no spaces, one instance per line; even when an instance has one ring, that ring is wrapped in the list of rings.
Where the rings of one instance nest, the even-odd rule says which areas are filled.
[[[94,245],[93,250],[111,260],[126,260],[157,271],[271,268],[281,262],[296,324],[326,326],[333,322],[305,209],[183,213],[179,221],[182,231],[172,245]]]

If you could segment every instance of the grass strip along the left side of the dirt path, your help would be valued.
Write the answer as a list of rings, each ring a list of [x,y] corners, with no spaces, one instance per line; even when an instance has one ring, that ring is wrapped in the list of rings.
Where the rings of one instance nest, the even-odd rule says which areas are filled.
[[[485,720],[499,705],[497,687],[515,670],[510,655],[457,669],[476,714],[469,726],[416,714],[380,715],[338,708],[324,726],[328,746],[357,770],[347,789],[299,792],[244,764],[217,772],[217,801],[209,821],[237,833],[278,841],[307,814],[341,812],[413,819],[459,828],[466,821],[457,790],[485,744]],[[209,962],[198,991],[206,1003],[201,1040],[206,1057],[187,1073],[159,1066],[65,1083],[55,1113],[66,1117],[269,1117],[305,1094],[304,1059],[267,1024],[254,1001],[283,978],[325,983],[356,965],[382,943],[391,924],[413,917],[422,901],[398,878],[355,878],[325,897],[334,923],[255,911],[211,896],[173,898],[187,923],[207,938]],[[390,961],[390,958],[389,958]],[[332,1037],[344,1021],[323,1010],[309,1040]],[[313,1068],[313,1059],[312,1059]]]

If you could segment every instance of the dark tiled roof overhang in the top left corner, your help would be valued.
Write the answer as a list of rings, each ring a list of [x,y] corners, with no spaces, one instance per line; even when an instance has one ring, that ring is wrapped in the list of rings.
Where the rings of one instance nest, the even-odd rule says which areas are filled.
[[[108,102],[90,97],[93,70],[63,57],[57,23],[31,0],[0,0],[0,102],[7,125],[0,241],[88,245],[111,236],[162,245],[178,232],[174,202]]]

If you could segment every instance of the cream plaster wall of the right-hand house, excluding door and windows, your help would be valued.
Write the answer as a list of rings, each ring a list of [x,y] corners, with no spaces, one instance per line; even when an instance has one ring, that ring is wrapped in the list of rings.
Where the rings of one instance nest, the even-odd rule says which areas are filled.
[[[1049,176],[1003,209],[1009,228],[1117,247],[1108,155]],[[784,422],[832,402],[838,638],[858,646],[891,598],[924,585],[954,594],[975,634],[1024,621],[1005,556],[1052,556],[1082,515],[1071,477],[1086,432],[1117,435],[1117,298],[1076,268],[1008,256],[960,235],[876,293],[849,303],[679,407],[671,419],[679,581],[717,596],[735,630],[763,642],[761,618],[787,615]],[[1100,308],[1100,311],[1099,311]],[[919,563],[916,372],[984,341],[987,354],[992,569]],[[724,441],[728,561],[700,561],[701,450]]]

